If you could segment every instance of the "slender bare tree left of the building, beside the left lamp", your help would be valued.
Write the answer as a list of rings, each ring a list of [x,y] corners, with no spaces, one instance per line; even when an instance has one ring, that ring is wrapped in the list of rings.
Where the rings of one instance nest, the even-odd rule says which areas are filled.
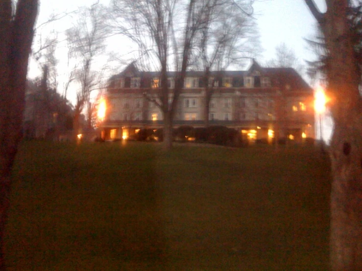
[[[92,64],[104,49],[105,25],[104,8],[96,3],[91,7],[82,8],[78,12],[76,24],[66,32],[70,54],[80,62],[74,73],[74,79],[80,85],[74,106],[74,137],[79,133],[80,114],[83,108],[90,103],[91,91],[97,84]]]

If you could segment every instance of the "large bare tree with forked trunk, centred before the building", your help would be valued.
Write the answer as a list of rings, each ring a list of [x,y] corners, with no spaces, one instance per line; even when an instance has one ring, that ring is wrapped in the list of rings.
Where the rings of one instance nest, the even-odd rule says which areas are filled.
[[[113,0],[114,30],[138,46],[140,65],[158,71],[153,90],[146,89],[145,95],[163,113],[167,150],[172,146],[172,122],[206,2]],[[175,71],[173,89],[168,85],[169,70]]]

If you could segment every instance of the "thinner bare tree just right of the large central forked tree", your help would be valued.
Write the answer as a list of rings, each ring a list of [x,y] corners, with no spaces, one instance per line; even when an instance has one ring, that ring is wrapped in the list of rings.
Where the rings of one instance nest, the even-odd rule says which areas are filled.
[[[202,86],[205,88],[206,127],[209,125],[210,101],[215,83],[222,75],[214,73],[212,78],[212,71],[222,73],[229,66],[241,65],[243,60],[252,58],[259,52],[256,24],[251,17],[253,2],[253,0],[206,1],[203,27],[198,33],[194,54],[196,66],[201,66],[204,71]]]

